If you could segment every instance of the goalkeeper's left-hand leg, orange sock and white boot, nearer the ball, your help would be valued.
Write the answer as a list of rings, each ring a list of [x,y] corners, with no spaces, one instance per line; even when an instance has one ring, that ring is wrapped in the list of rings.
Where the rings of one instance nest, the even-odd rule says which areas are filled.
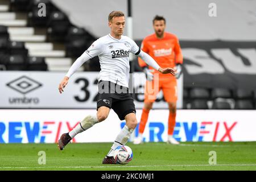
[[[158,81],[155,84],[155,81]],[[153,103],[156,100],[156,96],[159,93],[159,80],[147,81],[144,89],[144,107],[142,109],[141,120],[139,122],[139,134],[138,137],[134,139],[134,144],[140,144],[143,142],[143,133],[148,120],[148,114],[150,109],[152,109]]]

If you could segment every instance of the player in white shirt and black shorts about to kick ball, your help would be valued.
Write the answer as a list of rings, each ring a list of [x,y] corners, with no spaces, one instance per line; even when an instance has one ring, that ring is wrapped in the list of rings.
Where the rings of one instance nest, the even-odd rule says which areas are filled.
[[[99,96],[97,100],[97,113],[86,116],[80,122],[80,125],[77,125],[69,133],[62,134],[58,146],[60,150],[63,150],[77,134],[88,130],[98,122],[104,121],[112,108],[117,113],[119,119],[125,119],[126,125],[117,135],[117,138],[115,138],[102,164],[115,164],[113,158],[114,149],[118,146],[125,145],[137,126],[133,97],[128,92],[130,71],[129,53],[131,52],[141,57],[142,60],[160,73],[176,75],[172,68],[160,68],[155,60],[147,55],[147,53],[141,51],[133,40],[122,35],[125,27],[125,15],[121,11],[112,11],[109,14],[109,27],[111,29],[110,34],[96,40],[82,53],[75,63],[72,64],[71,68],[69,68],[68,73],[59,84],[59,92],[62,93],[68,84],[69,78],[85,61],[88,61],[94,56],[99,57],[101,71],[98,79]],[[122,92],[119,92],[120,90]]]

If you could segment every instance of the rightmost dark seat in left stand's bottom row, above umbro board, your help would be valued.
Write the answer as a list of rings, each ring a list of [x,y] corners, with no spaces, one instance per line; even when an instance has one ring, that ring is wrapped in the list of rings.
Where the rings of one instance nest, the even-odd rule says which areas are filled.
[[[47,71],[44,57],[28,57],[27,64],[28,71]]]

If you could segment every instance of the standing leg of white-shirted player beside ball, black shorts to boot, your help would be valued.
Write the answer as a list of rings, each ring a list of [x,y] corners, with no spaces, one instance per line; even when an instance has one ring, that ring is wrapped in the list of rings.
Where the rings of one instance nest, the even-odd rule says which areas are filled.
[[[103,159],[102,164],[115,164],[113,158],[115,148],[125,145],[137,126],[136,110],[132,97],[129,100],[121,100],[113,103],[112,109],[117,113],[120,120],[126,120],[126,125],[115,138],[114,143]]]

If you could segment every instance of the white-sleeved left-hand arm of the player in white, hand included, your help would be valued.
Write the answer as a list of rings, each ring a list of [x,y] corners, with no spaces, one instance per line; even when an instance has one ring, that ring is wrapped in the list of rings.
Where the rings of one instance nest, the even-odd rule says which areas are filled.
[[[64,92],[65,86],[68,84],[69,78],[84,64],[86,61],[100,55],[101,53],[101,43],[100,40],[96,40],[82,55],[76,59],[76,61],[69,68],[68,73],[64,76],[63,80],[59,84],[59,92]]]

